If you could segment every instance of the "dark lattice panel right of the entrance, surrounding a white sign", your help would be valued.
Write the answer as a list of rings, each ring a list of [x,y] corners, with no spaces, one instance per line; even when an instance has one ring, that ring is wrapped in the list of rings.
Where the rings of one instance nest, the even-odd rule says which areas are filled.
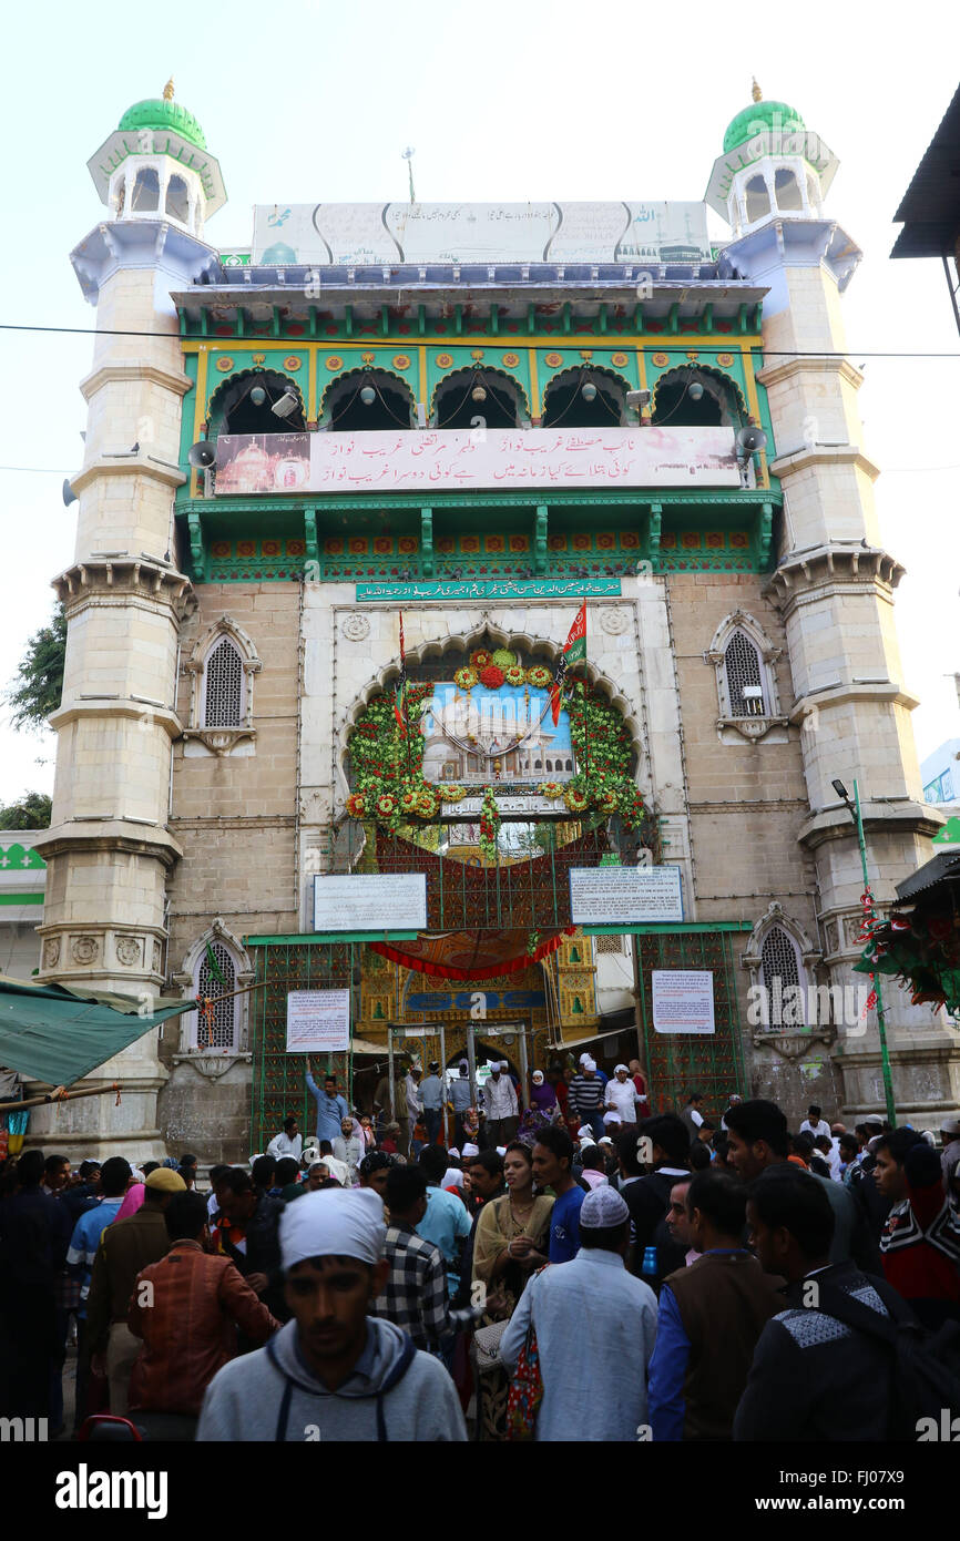
[[[737,1006],[732,934],[672,932],[636,937],[639,1011],[650,1106],[673,1113],[690,1091],[704,1097],[704,1111],[720,1120],[732,1093],[746,1096],[743,1040]],[[713,1032],[655,1032],[653,969],[704,969],[713,975]]]

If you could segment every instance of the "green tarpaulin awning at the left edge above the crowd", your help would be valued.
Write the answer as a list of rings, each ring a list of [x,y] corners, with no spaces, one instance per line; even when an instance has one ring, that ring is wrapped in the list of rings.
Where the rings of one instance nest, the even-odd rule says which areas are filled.
[[[143,1012],[145,1006],[151,1011]],[[0,974],[0,1065],[51,1086],[71,1086],[196,1000],[134,1000],[39,985]]]

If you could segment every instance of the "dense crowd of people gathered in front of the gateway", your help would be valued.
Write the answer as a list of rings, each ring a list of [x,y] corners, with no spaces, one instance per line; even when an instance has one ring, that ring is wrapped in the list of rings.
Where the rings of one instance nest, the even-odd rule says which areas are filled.
[[[695,1089],[650,1114],[636,1062],[589,1056],[525,1096],[505,1062],[481,1099],[465,1063],[411,1066],[370,1114],[308,1089],[308,1143],[290,1114],[203,1179],[186,1154],[0,1168],[0,1413],[177,1441],[911,1438],[884,1333],[960,1322],[960,1120],[937,1142],[811,1106],[792,1131]]]

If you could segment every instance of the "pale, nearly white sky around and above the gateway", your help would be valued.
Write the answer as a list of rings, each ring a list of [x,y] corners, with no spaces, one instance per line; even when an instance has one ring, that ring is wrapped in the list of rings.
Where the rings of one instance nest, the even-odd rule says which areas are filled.
[[[895,29],[894,29],[895,26]],[[880,465],[883,539],[908,569],[897,593],[901,683],[921,698],[920,755],[960,734],[960,336],[938,262],[891,262],[892,214],[957,85],[960,17],[703,0],[652,15],[635,3],[485,0],[416,6],[253,0],[123,8],[54,0],[5,14],[8,69],[3,314],[18,325],[92,327],[68,253],[103,217],[86,160],[122,112],[176,96],[200,120],[230,202],[214,245],[245,245],[253,205],[700,199],[729,120],[750,100],[795,106],[840,157],[826,213],[864,251],[844,299],[863,447]],[[727,227],[710,216],[717,239]],[[52,609],[69,566],[92,337],[0,333],[0,472],[6,561],[0,684]],[[946,353],[951,358],[921,358]],[[14,734],[0,712],[0,800],[52,789],[54,737]]]

